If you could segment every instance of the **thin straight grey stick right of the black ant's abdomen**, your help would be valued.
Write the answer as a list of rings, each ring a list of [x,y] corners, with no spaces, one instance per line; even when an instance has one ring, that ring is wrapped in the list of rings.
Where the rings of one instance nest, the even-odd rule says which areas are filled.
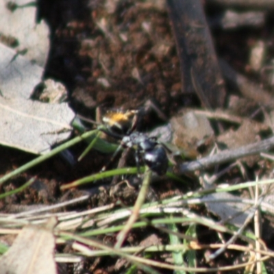
[[[206,169],[215,164],[222,164],[225,162],[233,161],[245,156],[258,154],[263,151],[269,151],[274,148],[274,137],[271,137],[260,142],[256,142],[245,147],[238,147],[238,149],[225,150],[216,155],[201,158],[192,162],[186,162],[179,166],[179,173],[186,173],[188,171],[197,171]]]

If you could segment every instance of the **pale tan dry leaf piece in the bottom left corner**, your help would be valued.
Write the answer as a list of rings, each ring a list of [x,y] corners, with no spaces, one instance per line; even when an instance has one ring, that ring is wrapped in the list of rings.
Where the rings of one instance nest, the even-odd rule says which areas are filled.
[[[0,258],[0,274],[57,274],[53,257],[55,219],[40,227],[22,229],[12,247]]]

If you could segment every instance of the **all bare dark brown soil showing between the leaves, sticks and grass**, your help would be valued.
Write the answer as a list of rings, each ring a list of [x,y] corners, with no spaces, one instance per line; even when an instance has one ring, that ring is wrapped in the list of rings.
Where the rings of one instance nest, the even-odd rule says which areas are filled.
[[[214,6],[206,6],[206,10],[212,15]],[[69,103],[75,113],[95,119],[98,107],[103,110],[128,110],[153,102],[170,119],[181,108],[200,107],[194,92],[190,94],[182,90],[175,38],[164,1],[40,0],[38,21],[41,19],[47,21],[51,29],[51,49],[45,79],[50,77],[66,86]],[[238,71],[252,76],[247,70],[246,49],[258,36],[269,37],[273,32],[270,25],[269,20],[264,29],[258,28],[255,32],[245,29],[235,32],[212,30],[219,57],[229,60]],[[269,52],[271,54],[273,52]],[[155,118],[157,115],[150,108],[147,109],[149,111],[142,117],[143,129],[150,129],[164,122]],[[71,149],[71,153],[76,159],[85,148],[85,144],[77,145]],[[8,173],[34,158],[34,155],[6,147],[0,147],[0,154],[6,159],[4,163],[1,162],[1,174],[2,171]],[[97,186],[69,192],[60,190],[62,184],[99,172],[109,160],[108,155],[92,151],[82,162],[70,166],[60,156],[56,156],[5,184],[3,190],[8,191],[21,186],[32,176],[37,178],[37,182],[28,190],[1,201],[1,211],[14,212],[23,210],[23,206],[56,203],[79,197],[86,192],[91,194],[90,200],[75,207],[75,210],[95,208],[117,200],[132,205],[136,199],[136,189],[124,191],[121,188],[116,197],[111,197],[105,195],[105,189],[109,190],[108,181],[102,184],[104,191]],[[255,177],[255,170],[261,171],[258,166],[252,168],[254,170],[249,173],[250,179]],[[232,171],[226,179],[229,181],[237,176],[238,173],[235,175]],[[165,184],[152,186],[149,199],[171,197],[197,186],[196,179],[193,179],[191,186],[184,186],[185,189],[168,179]],[[205,208],[199,207],[197,211],[199,214],[208,214]],[[200,226],[198,231],[199,242],[219,240],[215,232],[206,227]],[[138,245],[142,239],[152,234],[158,234],[162,242],[169,240],[157,229],[149,227],[141,232],[132,232],[127,244]],[[272,237],[268,238],[269,246]],[[114,242],[115,237],[105,236],[101,240]],[[197,258],[200,259],[199,266],[210,266],[202,252],[197,251]],[[164,260],[160,255],[154,259]],[[241,260],[243,258],[236,252],[224,253],[212,263],[212,267],[236,264]],[[118,262],[116,258],[101,258],[98,261],[88,259],[84,269],[86,273],[121,273],[115,269]],[[76,273],[73,268],[64,272]]]

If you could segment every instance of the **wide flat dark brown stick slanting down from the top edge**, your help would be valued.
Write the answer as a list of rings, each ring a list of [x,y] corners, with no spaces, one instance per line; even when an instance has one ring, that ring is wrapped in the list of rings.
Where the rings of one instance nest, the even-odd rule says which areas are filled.
[[[201,0],[166,0],[180,62],[182,92],[220,108],[225,89]]]

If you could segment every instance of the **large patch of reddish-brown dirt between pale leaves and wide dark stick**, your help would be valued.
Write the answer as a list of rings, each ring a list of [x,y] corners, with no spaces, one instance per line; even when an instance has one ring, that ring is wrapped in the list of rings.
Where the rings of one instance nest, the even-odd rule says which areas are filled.
[[[81,114],[93,113],[99,105],[138,108],[148,99],[165,113],[174,112],[184,101],[166,10],[135,1],[122,1],[111,13],[103,7],[100,1],[52,6],[49,21],[62,8],[69,15],[51,23],[45,77],[66,83],[71,105]]]

